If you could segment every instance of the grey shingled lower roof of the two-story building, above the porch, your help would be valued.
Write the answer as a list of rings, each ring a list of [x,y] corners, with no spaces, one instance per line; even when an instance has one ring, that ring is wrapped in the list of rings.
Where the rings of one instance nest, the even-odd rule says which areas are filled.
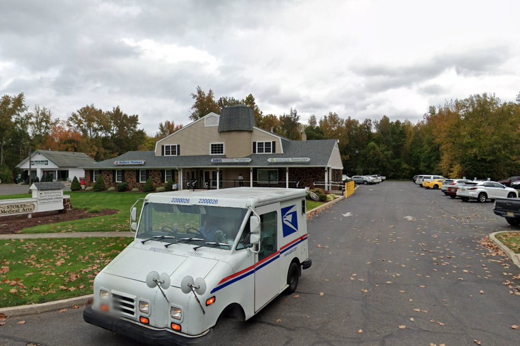
[[[85,169],[152,169],[152,168],[185,168],[185,167],[326,167],[332,155],[335,139],[288,141],[283,144],[283,154],[251,154],[251,162],[246,163],[212,163],[212,158],[224,158],[222,155],[193,156],[155,156],[154,151],[129,151],[98,163],[82,166]],[[271,157],[309,157],[309,162],[267,162]],[[115,161],[144,160],[144,165],[116,166]]]

